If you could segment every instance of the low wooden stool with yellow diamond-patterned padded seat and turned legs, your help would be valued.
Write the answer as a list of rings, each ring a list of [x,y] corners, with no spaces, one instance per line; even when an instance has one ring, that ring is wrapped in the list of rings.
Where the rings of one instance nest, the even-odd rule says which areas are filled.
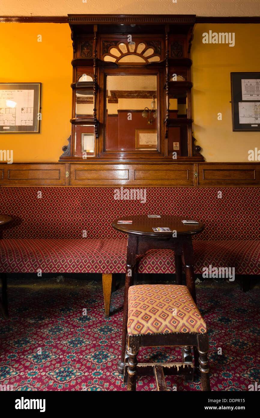
[[[137,363],[139,347],[182,347],[180,363]],[[182,285],[137,285],[128,292],[124,367],[127,390],[136,390],[136,375],[155,375],[157,390],[167,390],[164,375],[184,375],[193,381],[190,347],[197,347],[202,390],[210,390],[207,326],[191,294]]]

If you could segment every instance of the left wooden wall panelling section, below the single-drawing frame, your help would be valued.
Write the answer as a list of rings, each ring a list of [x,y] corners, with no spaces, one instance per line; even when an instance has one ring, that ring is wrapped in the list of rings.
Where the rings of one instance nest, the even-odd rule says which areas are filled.
[[[0,186],[65,186],[65,166],[65,163],[0,163]]]

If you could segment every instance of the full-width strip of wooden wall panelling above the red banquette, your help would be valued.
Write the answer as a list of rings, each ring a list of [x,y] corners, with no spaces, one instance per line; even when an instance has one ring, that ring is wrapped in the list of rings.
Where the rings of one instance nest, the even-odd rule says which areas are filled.
[[[259,187],[260,163],[0,163],[0,186],[126,185]]]

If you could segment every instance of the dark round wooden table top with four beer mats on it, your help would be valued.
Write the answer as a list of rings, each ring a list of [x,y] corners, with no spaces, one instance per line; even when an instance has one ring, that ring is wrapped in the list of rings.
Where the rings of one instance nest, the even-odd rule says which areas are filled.
[[[114,219],[112,222],[113,228],[120,232],[133,235],[142,235],[146,237],[172,237],[172,231],[177,232],[177,237],[180,235],[197,234],[202,232],[204,225],[199,222],[196,225],[184,225],[182,220],[196,220],[194,218],[161,215],[160,218],[149,218],[148,215],[135,215],[129,217],[120,217]],[[132,224],[118,224],[118,221],[132,221]],[[156,232],[153,228],[169,228],[170,232]]]

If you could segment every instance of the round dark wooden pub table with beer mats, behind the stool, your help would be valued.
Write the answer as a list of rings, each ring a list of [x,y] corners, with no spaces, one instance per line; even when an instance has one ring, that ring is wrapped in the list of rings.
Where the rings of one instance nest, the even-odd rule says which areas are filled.
[[[170,249],[174,251],[175,272],[177,284],[182,284],[182,263],[185,268],[186,284],[196,303],[196,290],[194,281],[194,258],[192,248],[192,235],[202,232],[204,225],[185,225],[182,220],[186,217],[161,215],[160,218],[151,218],[148,215],[136,215],[116,218],[112,226],[120,232],[128,234],[126,255],[126,278],[124,291],[124,313],[122,329],[121,359],[117,364],[120,374],[124,373],[127,316],[128,316],[128,290],[133,283],[136,256],[145,254],[151,249]],[[189,218],[189,220],[196,220]],[[119,221],[132,221],[132,223],[118,223]],[[155,230],[157,228],[159,230]],[[170,231],[166,232],[168,228]],[[159,232],[160,231],[160,232]],[[197,357],[197,354],[196,354]],[[197,359],[194,359],[194,361]]]

